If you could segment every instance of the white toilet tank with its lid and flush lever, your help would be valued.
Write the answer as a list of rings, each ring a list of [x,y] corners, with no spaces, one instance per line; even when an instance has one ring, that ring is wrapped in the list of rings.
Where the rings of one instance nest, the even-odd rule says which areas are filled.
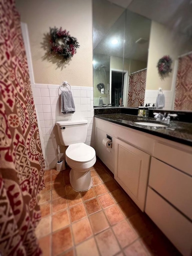
[[[87,120],[56,122],[61,144],[69,146],[70,144],[84,143],[87,137],[87,123]]]

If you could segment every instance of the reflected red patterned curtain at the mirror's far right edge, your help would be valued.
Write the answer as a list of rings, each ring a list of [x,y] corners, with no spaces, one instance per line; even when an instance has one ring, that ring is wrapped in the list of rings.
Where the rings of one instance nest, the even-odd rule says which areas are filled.
[[[192,53],[179,58],[174,109],[192,110]]]

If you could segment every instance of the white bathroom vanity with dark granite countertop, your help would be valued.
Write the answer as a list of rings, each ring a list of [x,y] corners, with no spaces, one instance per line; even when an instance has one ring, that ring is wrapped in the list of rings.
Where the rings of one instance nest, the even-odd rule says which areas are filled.
[[[192,124],[170,122],[166,128],[144,128],[133,122],[136,119],[96,115],[97,155],[176,248],[191,255]],[[102,144],[106,134],[112,137],[111,150]]]

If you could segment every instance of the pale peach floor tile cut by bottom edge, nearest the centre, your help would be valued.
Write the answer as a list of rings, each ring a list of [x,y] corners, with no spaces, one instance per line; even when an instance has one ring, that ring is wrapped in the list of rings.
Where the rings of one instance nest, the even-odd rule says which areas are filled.
[[[88,239],[76,246],[77,256],[99,256],[98,248],[94,238]]]

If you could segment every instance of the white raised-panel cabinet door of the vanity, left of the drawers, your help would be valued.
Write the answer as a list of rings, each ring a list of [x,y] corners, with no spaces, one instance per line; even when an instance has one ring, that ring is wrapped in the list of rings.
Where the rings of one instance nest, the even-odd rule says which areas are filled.
[[[116,139],[115,179],[144,211],[150,155]]]

